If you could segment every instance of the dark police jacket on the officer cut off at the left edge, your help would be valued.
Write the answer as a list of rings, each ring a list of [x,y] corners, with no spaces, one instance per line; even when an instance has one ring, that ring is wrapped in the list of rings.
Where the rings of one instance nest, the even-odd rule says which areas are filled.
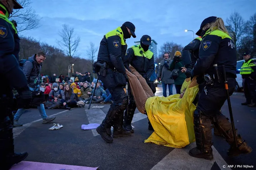
[[[0,2],[1,4],[1,2]],[[1,4],[2,5],[2,4]],[[26,77],[20,69],[18,63],[19,41],[17,31],[12,27],[12,24],[8,22],[9,14],[8,12],[0,6],[0,75],[6,81],[4,85],[0,85],[0,95],[6,94],[6,87],[9,89],[15,88],[19,89],[26,88],[28,83]],[[8,92],[7,92],[8,93]]]

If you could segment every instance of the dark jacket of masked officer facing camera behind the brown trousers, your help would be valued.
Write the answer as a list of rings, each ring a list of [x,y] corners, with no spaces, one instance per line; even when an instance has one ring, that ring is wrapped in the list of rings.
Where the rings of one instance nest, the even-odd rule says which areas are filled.
[[[138,48],[138,47],[135,47]],[[139,45],[139,48],[141,46]],[[145,56],[145,54],[144,54]],[[136,69],[141,75],[146,74],[147,77],[150,77],[154,72],[154,55],[152,58],[146,58],[142,54],[134,55],[133,48],[128,48],[124,60],[125,67],[129,70],[129,64]]]

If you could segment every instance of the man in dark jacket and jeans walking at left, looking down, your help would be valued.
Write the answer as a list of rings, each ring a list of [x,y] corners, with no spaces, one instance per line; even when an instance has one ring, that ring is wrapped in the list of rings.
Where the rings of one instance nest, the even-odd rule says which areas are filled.
[[[43,62],[46,56],[44,52],[38,52],[37,54],[29,57],[29,60],[26,61],[23,65],[23,73],[25,74],[26,80],[28,81],[28,86],[30,91],[39,91],[40,83],[40,71],[42,69]],[[37,106],[38,111],[43,119],[43,123],[48,123],[54,120],[56,117],[48,117],[45,113],[44,104],[41,103]],[[20,116],[24,113],[25,109],[18,109],[14,117],[14,127],[22,126],[18,122]]]

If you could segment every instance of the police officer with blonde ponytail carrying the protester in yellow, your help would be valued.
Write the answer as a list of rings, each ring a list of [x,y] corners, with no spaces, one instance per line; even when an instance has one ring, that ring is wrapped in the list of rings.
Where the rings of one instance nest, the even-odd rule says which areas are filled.
[[[227,154],[239,155],[252,151],[240,135],[236,136],[238,148],[233,139],[231,123],[220,113],[220,109],[227,99],[224,88],[223,69],[227,75],[229,95],[232,95],[236,84],[236,49],[231,37],[221,18],[208,17],[205,19],[198,36],[202,36],[202,43],[199,47],[199,59],[192,69],[192,76],[210,76],[212,81],[206,82],[204,92],[199,97],[197,108],[194,112],[194,131],[197,147],[189,151],[189,155],[196,158],[213,159],[212,154],[212,131],[211,123],[225,137],[231,145]],[[218,67],[216,71],[214,68]],[[214,65],[214,66],[213,66]],[[219,79],[217,76],[219,74]],[[198,84],[202,81],[198,78]]]

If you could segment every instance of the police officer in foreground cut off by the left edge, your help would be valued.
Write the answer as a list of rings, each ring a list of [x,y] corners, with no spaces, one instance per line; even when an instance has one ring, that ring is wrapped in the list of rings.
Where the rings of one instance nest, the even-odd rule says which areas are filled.
[[[0,77],[6,80],[4,84],[0,84],[0,166],[4,170],[10,169],[12,165],[28,156],[26,152],[14,152],[13,126],[9,118],[12,114],[13,87],[18,91],[23,102],[19,103],[19,108],[27,106],[31,99],[26,77],[19,67],[16,55],[19,53],[15,43],[17,30],[8,20],[13,9],[21,8],[16,0],[0,0]]]

